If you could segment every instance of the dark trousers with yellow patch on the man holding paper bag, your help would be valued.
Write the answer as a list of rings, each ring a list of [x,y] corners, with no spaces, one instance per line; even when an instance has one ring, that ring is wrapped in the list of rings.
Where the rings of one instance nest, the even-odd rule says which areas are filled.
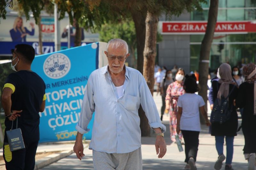
[[[4,150],[5,147],[3,148],[6,170],[34,170],[38,141],[24,142],[24,144],[25,149],[12,151],[11,153],[7,148],[6,150]],[[6,143],[4,145],[6,145]]]

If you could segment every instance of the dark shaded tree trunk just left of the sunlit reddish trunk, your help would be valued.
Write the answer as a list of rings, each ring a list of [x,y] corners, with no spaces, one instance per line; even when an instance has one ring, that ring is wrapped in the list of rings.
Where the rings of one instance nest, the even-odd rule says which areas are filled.
[[[137,37],[137,70],[143,74],[143,50],[146,36],[146,13],[144,11],[131,10]]]

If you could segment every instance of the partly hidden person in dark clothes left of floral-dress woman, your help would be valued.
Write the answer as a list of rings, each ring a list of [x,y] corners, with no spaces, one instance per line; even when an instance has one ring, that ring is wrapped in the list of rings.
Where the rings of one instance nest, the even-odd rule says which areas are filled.
[[[167,70],[164,79],[160,84],[161,88],[161,96],[162,96],[162,107],[161,107],[161,121],[163,120],[164,110],[165,110],[165,96],[168,86],[174,82],[174,78],[172,78],[172,71]]]

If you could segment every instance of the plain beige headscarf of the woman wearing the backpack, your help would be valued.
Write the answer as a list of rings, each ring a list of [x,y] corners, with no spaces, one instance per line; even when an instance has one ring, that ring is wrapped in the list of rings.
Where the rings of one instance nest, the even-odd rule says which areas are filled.
[[[221,99],[221,96],[227,97],[229,93],[229,84],[232,83],[232,75],[231,75],[231,67],[227,63],[223,63],[219,67],[219,72],[220,72],[220,88],[219,92],[217,95],[218,99]]]

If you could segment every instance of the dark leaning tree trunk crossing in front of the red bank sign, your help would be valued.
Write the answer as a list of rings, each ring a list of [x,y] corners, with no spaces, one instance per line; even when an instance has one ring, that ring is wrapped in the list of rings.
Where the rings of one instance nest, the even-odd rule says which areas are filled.
[[[219,0],[211,1],[209,14],[208,14],[208,23],[207,23],[204,39],[202,41],[201,50],[200,50],[199,95],[203,97],[204,102],[206,103],[205,104],[206,111],[207,111],[207,90],[208,90],[207,81],[208,81],[208,74],[209,74],[209,58],[210,58],[209,56],[210,56],[210,50],[212,46],[213,34],[215,31],[215,26],[217,22],[218,4],[219,4]],[[200,122],[202,124],[205,123],[202,116],[200,117]]]

